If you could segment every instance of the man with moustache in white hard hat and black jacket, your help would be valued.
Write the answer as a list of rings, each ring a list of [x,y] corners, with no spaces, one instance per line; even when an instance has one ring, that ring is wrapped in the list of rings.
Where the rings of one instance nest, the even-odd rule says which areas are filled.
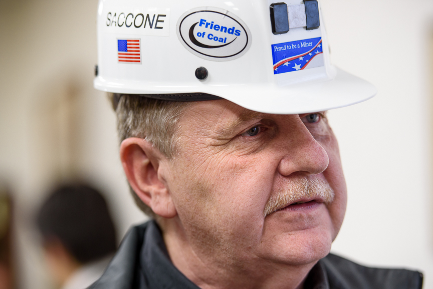
[[[346,185],[326,111],[375,89],[329,64],[320,15],[100,2],[95,87],[114,93],[122,165],[154,220],[91,288],[421,287],[329,254]]]

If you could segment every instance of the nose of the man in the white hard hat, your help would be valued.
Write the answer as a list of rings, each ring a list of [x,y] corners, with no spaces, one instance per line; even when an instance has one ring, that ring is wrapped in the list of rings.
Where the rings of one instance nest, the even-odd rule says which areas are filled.
[[[279,141],[284,152],[278,164],[281,175],[288,176],[295,172],[315,175],[328,167],[328,153],[300,118],[285,128]]]

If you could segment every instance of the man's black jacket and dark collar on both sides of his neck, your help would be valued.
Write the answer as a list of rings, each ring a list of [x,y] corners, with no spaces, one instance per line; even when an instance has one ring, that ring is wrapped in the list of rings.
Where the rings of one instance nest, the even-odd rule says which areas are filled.
[[[420,289],[422,274],[370,268],[329,254],[311,269],[304,289]],[[102,277],[89,289],[199,289],[170,261],[155,221],[133,227]]]

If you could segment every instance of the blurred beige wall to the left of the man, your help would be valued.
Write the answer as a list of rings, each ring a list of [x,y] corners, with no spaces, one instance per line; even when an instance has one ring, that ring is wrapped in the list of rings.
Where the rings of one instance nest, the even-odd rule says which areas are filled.
[[[0,1],[0,184],[14,193],[21,288],[52,287],[32,221],[53,182],[79,177],[105,190],[119,238],[144,219],[118,160],[114,114],[93,89],[96,12],[97,0]]]

